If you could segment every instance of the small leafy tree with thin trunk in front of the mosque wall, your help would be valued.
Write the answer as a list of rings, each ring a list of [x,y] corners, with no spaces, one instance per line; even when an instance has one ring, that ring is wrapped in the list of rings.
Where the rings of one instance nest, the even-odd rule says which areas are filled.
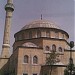
[[[60,60],[58,59],[59,53],[56,53],[55,51],[51,51],[51,53],[47,54],[47,58],[46,58],[46,65],[50,66],[50,71],[49,74],[51,75],[52,73],[52,68],[54,64],[56,64],[57,62],[59,62]]]

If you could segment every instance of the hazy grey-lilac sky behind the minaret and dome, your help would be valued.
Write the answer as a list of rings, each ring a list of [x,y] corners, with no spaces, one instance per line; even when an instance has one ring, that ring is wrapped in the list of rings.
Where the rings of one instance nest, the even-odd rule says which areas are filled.
[[[2,50],[5,25],[4,6],[7,0],[0,0],[0,51]],[[43,19],[55,22],[69,34],[69,41],[74,41],[75,0],[13,0],[15,10],[12,16],[10,44],[11,51],[14,43],[14,34],[23,26],[34,20]]]

